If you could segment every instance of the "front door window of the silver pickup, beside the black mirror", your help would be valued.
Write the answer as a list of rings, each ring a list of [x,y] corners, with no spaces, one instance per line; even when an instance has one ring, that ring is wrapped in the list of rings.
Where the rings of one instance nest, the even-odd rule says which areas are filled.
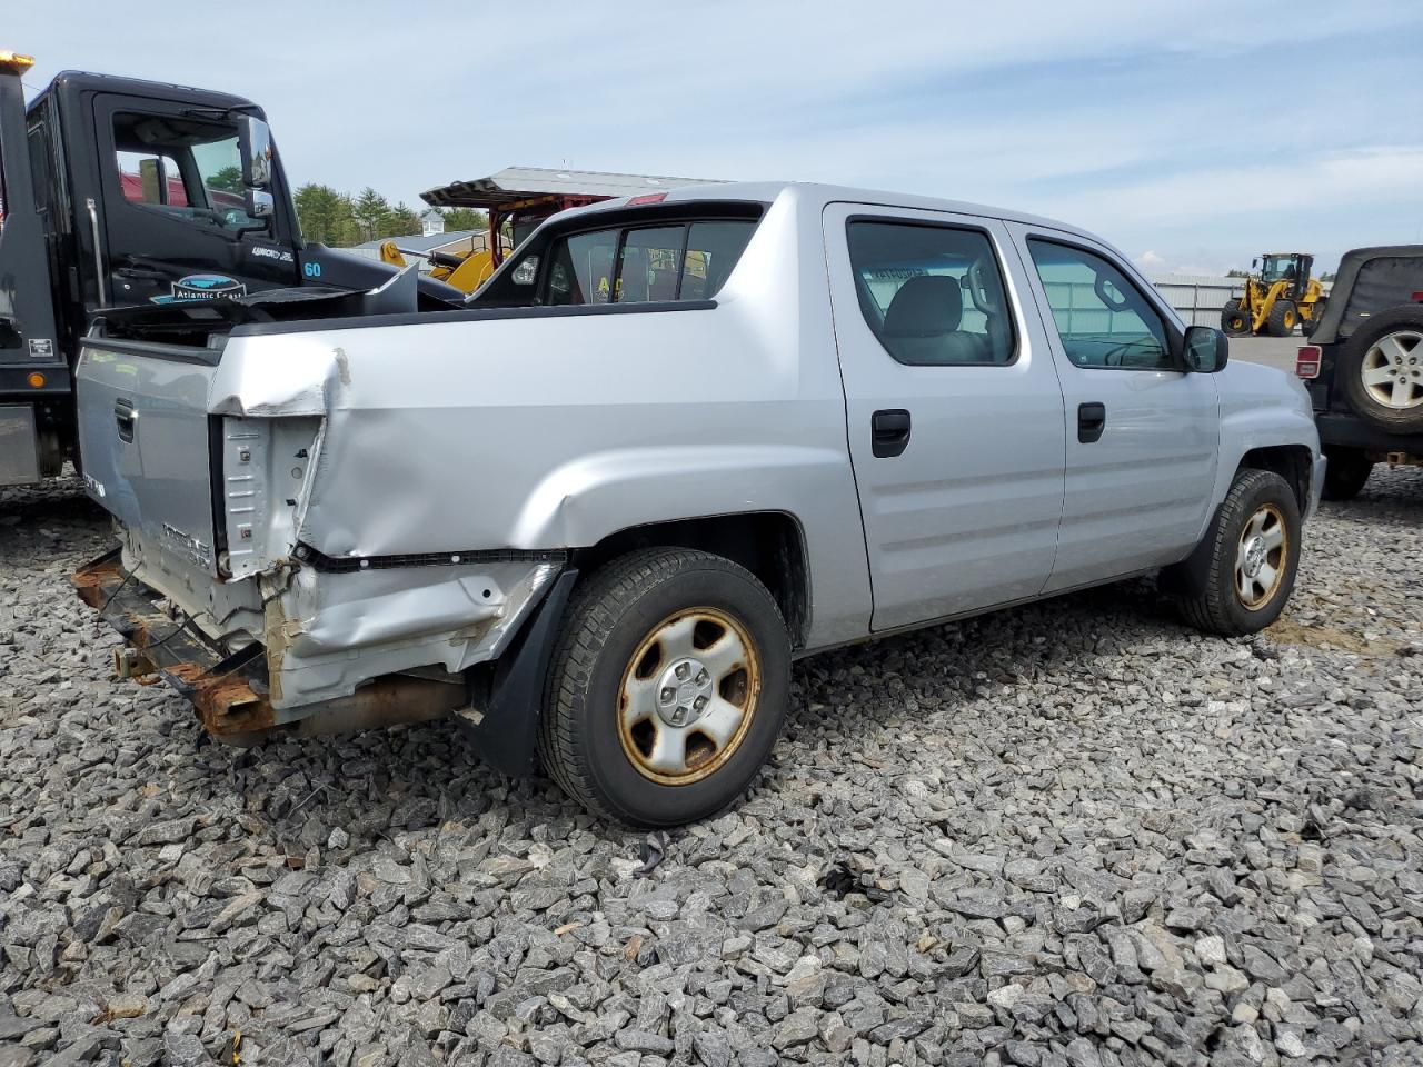
[[[1079,367],[1177,370],[1165,322],[1107,259],[1073,245],[1029,240],[1067,359]]]

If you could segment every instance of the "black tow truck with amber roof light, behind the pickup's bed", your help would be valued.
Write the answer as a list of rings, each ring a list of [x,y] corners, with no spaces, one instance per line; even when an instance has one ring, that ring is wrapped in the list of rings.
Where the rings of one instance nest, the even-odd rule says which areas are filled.
[[[73,371],[90,331],[376,310],[397,270],[302,240],[250,100],[64,71],[27,107],[31,65],[0,51],[0,487],[83,468]],[[421,310],[464,296],[410,283]]]

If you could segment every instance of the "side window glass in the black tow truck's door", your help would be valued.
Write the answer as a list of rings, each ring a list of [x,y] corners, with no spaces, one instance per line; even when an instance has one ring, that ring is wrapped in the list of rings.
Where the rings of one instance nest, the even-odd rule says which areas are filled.
[[[245,209],[238,134],[168,115],[114,117],[115,169],[129,203],[225,229],[260,226]]]

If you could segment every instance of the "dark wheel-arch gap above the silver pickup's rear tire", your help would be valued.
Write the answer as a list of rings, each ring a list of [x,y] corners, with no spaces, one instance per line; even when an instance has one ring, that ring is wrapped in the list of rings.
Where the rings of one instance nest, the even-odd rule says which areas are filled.
[[[805,646],[811,623],[810,555],[800,519],[785,511],[748,511],[625,526],[572,559],[588,575],[609,559],[640,548],[692,548],[740,563],[781,609],[791,647]]]

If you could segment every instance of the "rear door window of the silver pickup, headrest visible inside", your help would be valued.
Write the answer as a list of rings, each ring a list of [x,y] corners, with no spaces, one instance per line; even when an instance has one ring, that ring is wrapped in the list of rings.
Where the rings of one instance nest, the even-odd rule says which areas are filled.
[[[986,233],[851,219],[848,239],[859,310],[895,360],[955,367],[1016,359],[1003,275]]]

